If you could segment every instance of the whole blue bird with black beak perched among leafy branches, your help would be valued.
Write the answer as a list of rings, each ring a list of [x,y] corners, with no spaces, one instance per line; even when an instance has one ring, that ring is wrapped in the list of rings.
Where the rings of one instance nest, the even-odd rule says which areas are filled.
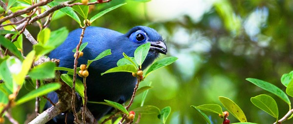
[[[60,67],[73,68],[74,53],[72,50],[79,43],[81,32],[82,29],[70,32],[64,43],[50,53],[50,58],[60,59]],[[87,97],[88,101],[94,102],[110,100],[124,103],[131,97],[137,82],[137,79],[131,73],[116,72],[101,76],[102,72],[117,67],[117,61],[123,58],[122,53],[133,56],[137,47],[150,42],[151,47],[142,65],[142,69],[150,65],[159,56],[159,53],[167,53],[167,46],[162,36],[154,29],[145,26],[133,27],[126,34],[101,27],[87,27],[83,42],[88,42],[88,45],[83,50],[84,56],[78,59],[78,67],[81,64],[86,64],[87,60],[94,59],[98,54],[107,49],[111,49],[112,53],[98,61],[94,61],[88,68],[89,76],[86,78]],[[65,72],[62,71],[62,73]],[[48,97],[53,102],[58,102],[55,92],[50,93]],[[52,105],[47,102],[44,109],[50,106]],[[110,106],[100,104],[87,103],[87,107],[97,120],[111,110]],[[73,115],[71,114],[69,117],[67,124],[73,123]],[[51,122],[61,124],[64,123],[64,119],[65,115],[59,115],[51,120]]]

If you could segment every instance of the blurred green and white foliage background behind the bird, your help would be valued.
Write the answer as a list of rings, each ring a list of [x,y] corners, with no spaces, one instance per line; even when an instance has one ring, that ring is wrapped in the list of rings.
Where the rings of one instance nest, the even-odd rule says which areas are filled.
[[[112,0],[91,6],[88,17],[124,2],[127,4],[99,18],[92,26],[126,33],[134,26],[144,25],[156,29],[166,39],[167,56],[179,59],[152,73],[141,86],[151,81],[154,87],[149,90],[145,105],[160,109],[171,106],[167,124],[205,124],[190,106],[221,105],[218,96],[238,104],[249,122],[275,121],[250,102],[251,97],[259,94],[276,100],[280,118],[288,112],[289,107],[280,98],[245,78],[261,79],[285,89],[280,78],[293,70],[293,0]],[[79,28],[68,16],[55,16],[49,28],[63,26],[70,31]],[[40,30],[38,26],[27,29],[34,37]],[[30,43],[24,45],[24,53],[32,49]],[[141,95],[131,108],[140,106],[140,102]],[[34,112],[34,101],[12,111],[23,123],[27,118],[23,115]],[[218,115],[205,113],[213,124],[222,123]],[[231,115],[229,119],[231,123],[237,122]],[[160,124],[160,120],[157,115],[142,115],[140,124]],[[283,124],[293,124],[293,120]]]

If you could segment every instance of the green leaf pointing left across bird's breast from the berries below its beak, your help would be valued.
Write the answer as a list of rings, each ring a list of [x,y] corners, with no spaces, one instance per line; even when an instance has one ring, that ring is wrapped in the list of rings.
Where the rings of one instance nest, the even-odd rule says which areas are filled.
[[[105,73],[112,73],[112,72],[134,72],[136,73],[136,68],[133,65],[124,65],[124,66],[118,66],[114,67],[112,69],[109,69],[105,71],[104,73],[101,73],[101,75],[104,75]]]

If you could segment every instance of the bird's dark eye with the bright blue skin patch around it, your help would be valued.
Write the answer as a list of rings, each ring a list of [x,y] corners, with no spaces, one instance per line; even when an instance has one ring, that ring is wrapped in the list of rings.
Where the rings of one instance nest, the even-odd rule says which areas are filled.
[[[138,30],[129,36],[129,39],[135,43],[144,43],[148,41],[148,36],[143,30]]]

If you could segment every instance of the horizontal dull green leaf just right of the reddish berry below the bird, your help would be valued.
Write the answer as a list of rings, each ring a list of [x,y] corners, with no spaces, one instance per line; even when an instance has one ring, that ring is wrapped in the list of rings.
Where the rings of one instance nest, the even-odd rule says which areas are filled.
[[[137,108],[132,109],[135,113],[140,113],[140,114],[160,114],[160,109],[156,106],[140,106]]]

